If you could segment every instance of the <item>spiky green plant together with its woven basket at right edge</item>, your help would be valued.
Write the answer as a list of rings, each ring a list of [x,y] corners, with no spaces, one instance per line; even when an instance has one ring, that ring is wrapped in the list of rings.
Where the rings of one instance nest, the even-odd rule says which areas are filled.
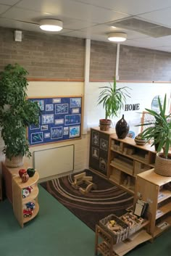
[[[162,176],[171,176],[171,114],[165,115],[166,102],[165,94],[163,106],[158,97],[159,112],[146,109],[146,111],[154,117],[154,122],[141,124],[151,125],[151,127],[146,128],[141,133],[141,136],[143,139],[152,140],[153,143],[151,146],[157,144],[155,172]]]

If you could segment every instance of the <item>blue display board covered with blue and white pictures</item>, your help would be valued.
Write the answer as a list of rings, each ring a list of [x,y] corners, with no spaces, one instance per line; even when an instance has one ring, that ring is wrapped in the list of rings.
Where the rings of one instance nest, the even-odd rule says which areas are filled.
[[[41,109],[39,125],[28,127],[31,145],[46,144],[81,136],[82,97],[29,98]]]

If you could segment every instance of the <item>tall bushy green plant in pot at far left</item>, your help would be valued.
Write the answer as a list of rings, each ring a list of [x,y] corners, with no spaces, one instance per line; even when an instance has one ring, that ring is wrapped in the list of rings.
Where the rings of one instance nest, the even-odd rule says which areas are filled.
[[[26,98],[27,74],[18,64],[9,64],[0,73],[1,137],[5,144],[6,165],[11,168],[22,165],[23,156],[31,156],[26,128],[39,122],[38,104]]]

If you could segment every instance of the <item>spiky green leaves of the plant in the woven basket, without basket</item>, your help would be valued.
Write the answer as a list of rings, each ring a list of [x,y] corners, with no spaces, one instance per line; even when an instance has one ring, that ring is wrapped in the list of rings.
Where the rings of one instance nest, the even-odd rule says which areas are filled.
[[[158,97],[159,113],[154,110],[146,109],[146,111],[149,112],[149,115],[152,115],[154,117],[154,122],[136,125],[151,125],[151,127],[146,128],[141,133],[141,136],[143,139],[153,140],[151,146],[153,146],[154,144],[158,144],[157,152],[161,152],[161,150],[163,149],[164,158],[168,157],[169,149],[171,146],[171,114],[165,115],[166,102],[166,94],[164,96],[163,106]]]

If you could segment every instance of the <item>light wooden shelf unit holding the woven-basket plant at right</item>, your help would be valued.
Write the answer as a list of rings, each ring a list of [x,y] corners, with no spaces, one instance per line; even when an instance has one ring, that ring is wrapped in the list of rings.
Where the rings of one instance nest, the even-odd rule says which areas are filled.
[[[137,199],[149,203],[149,233],[156,237],[171,226],[171,177],[160,176],[154,169],[137,176],[134,204]]]

